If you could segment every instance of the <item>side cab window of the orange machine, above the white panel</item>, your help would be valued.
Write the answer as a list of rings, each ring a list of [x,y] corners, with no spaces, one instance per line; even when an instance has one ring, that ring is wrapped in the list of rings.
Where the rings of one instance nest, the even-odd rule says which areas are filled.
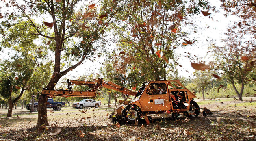
[[[166,94],[166,85],[165,83],[152,83],[150,86],[147,88],[147,94],[148,95],[161,95],[161,94]]]

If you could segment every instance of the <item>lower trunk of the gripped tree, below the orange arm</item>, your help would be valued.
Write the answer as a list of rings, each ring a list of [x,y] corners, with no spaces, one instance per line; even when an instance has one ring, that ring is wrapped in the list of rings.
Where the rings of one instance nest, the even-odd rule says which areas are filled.
[[[48,126],[48,119],[47,119],[47,110],[46,110],[46,102],[48,97],[46,95],[40,95],[38,100],[38,118],[37,118],[37,125],[39,127],[41,125]]]

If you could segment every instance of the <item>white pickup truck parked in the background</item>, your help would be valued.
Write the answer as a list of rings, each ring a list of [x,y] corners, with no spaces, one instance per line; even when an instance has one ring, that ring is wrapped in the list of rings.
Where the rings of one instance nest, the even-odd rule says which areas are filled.
[[[84,107],[95,107],[98,108],[100,106],[100,101],[93,101],[93,99],[83,99],[80,102],[74,103],[73,107],[75,108],[84,108]]]

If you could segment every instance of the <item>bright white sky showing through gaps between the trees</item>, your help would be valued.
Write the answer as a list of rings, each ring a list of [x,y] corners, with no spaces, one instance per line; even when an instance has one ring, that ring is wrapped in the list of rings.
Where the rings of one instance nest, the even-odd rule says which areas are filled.
[[[238,19],[234,16],[225,17],[223,15],[224,11],[220,9],[221,2],[216,0],[210,0],[210,3],[212,5],[215,5],[217,9],[219,9],[220,13],[209,11],[209,13],[211,13],[209,16],[205,17],[204,15],[202,15],[202,13],[200,13],[199,15],[196,15],[193,18],[189,19],[190,22],[197,26],[197,33],[191,32],[192,34],[189,35],[187,39],[196,39],[197,41],[193,43],[193,45],[187,45],[184,49],[180,48],[176,51],[177,54],[185,55],[187,54],[187,52],[189,52],[191,55],[196,55],[198,58],[202,58],[203,61],[207,62],[212,60],[212,58],[210,57],[211,52],[208,52],[210,51],[208,50],[208,47],[212,44],[215,44],[217,46],[223,46],[221,39],[225,38],[224,33],[226,32],[227,26],[233,24],[234,21]],[[2,7],[1,11],[9,10],[8,7],[2,4],[3,3],[1,3],[0,5]],[[41,19],[41,21],[52,22],[51,20],[52,19],[48,17],[46,17],[45,19]],[[115,48],[115,45],[108,46],[107,48],[109,48],[109,51],[111,51]],[[6,54],[6,52],[0,52],[0,59],[4,59],[4,54]],[[79,65],[73,71],[70,71],[63,78],[75,79],[84,74],[99,74],[100,67],[103,67],[102,63],[106,57],[106,55],[101,56],[100,58],[98,58],[97,56],[95,59],[96,61],[94,62],[90,60],[85,60],[83,64]],[[178,67],[178,72],[180,76],[186,78],[189,78],[189,76],[193,76],[192,73],[195,70],[191,67],[191,60],[189,60],[189,58],[180,57],[178,63],[182,65],[182,67]]]

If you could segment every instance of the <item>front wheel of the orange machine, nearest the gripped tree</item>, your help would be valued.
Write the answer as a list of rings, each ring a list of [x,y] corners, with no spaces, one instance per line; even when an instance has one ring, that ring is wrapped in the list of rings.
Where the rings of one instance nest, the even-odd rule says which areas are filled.
[[[129,124],[134,124],[141,117],[141,110],[138,106],[127,106],[123,111],[123,117]]]

